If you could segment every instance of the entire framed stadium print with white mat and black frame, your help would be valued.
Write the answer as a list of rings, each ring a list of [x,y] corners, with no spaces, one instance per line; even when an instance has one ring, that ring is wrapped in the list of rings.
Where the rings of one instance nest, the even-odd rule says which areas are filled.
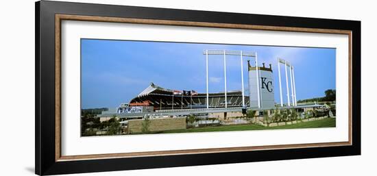
[[[361,154],[361,22],[36,3],[36,174]]]

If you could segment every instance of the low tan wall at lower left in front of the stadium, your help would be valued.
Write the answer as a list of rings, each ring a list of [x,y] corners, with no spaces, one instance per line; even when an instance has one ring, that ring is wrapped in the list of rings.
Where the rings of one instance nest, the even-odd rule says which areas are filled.
[[[140,133],[143,119],[128,121],[128,133]],[[186,118],[151,118],[149,131],[165,131],[170,129],[186,129]]]

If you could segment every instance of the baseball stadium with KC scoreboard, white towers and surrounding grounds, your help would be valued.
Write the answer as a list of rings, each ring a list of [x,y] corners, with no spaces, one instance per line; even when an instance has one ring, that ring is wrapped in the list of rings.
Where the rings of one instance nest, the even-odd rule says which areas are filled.
[[[206,92],[197,92],[193,89],[175,90],[151,83],[130,101],[121,103],[117,108],[108,108],[108,110],[102,111],[97,118],[101,122],[116,118],[121,125],[117,134],[145,134],[177,130],[186,132],[187,129],[192,128],[250,123],[263,127],[282,126],[282,121],[273,120],[276,118],[274,114],[278,112],[279,114],[288,113],[284,117],[289,119],[289,122],[284,122],[284,125],[287,126],[311,121],[311,118],[306,119],[306,117],[313,116],[313,114],[319,116],[320,119],[335,117],[335,110],[330,110],[335,106],[335,102],[330,105],[323,103],[297,104],[294,66],[287,60],[278,58],[276,62],[280,95],[280,101],[276,103],[272,66],[271,64],[266,66],[265,63],[258,64],[256,52],[206,49],[203,51],[203,55],[206,56]],[[225,90],[223,92],[208,92],[208,58],[211,55],[223,55]],[[227,55],[239,56],[241,90],[227,90],[225,69]],[[247,59],[247,75],[245,75],[247,76],[247,95],[245,95],[243,79],[243,60],[245,59]],[[251,64],[251,60],[254,61],[254,66]],[[284,80],[284,78],[281,77],[280,65],[284,67],[285,72],[287,90],[287,102],[285,103],[282,98],[282,79]],[[295,118],[292,118],[293,114],[295,114]],[[194,120],[191,121],[191,118]],[[150,123],[147,132],[143,129],[145,121]],[[102,130],[97,131],[96,135],[106,133],[106,130]]]

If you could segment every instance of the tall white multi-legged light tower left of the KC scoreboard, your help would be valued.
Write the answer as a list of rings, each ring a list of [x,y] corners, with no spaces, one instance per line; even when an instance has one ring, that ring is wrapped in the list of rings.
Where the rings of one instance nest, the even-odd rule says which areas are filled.
[[[224,62],[224,89],[225,89],[225,107],[228,108],[227,95],[227,85],[226,85],[226,55],[240,55],[241,56],[241,86],[242,86],[242,103],[245,106],[245,88],[243,84],[243,57],[256,58],[256,53],[251,51],[234,51],[234,50],[219,50],[219,49],[206,49],[203,51],[206,55],[206,90],[207,90],[207,108],[209,108],[209,97],[208,97],[208,55],[223,55]],[[256,58],[256,63],[258,60]],[[259,83],[258,83],[259,84]],[[258,95],[259,97],[259,95]],[[259,102],[260,107],[260,102]]]

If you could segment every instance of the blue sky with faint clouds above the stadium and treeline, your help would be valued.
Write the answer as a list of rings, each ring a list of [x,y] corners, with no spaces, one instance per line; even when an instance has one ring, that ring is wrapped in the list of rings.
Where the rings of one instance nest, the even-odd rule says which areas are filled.
[[[257,52],[260,66],[262,62],[266,66],[272,64],[277,103],[280,102],[277,58],[288,60],[295,67],[297,101],[323,97],[325,90],[335,89],[335,49],[82,39],[82,108],[111,108],[128,103],[151,82],[164,88],[206,92],[204,49]],[[254,63],[254,59],[250,62]],[[223,56],[210,55],[208,65],[209,92],[222,92]],[[243,60],[243,68],[248,91],[247,58]],[[286,103],[284,66],[280,69]],[[228,91],[241,90],[239,56],[227,56],[226,71]]]

